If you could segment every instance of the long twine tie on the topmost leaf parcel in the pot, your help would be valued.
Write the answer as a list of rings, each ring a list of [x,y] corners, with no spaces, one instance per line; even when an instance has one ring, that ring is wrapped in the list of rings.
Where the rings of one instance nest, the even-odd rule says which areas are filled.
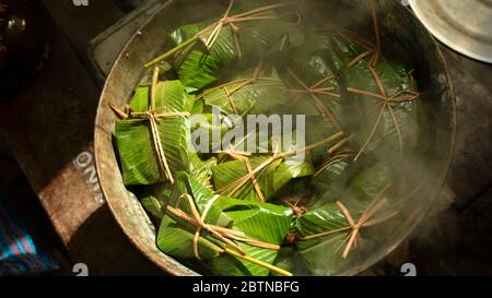
[[[198,34],[196,34],[194,37],[191,37],[190,39],[176,46],[172,50],[169,50],[169,51],[165,52],[164,55],[155,58],[154,60],[145,63],[145,67],[149,68],[151,65],[154,65],[154,64],[167,59],[168,57],[179,52],[181,49],[188,47],[189,45],[192,45],[198,38],[203,37],[204,35],[207,35],[209,33],[210,33],[210,35],[207,38],[207,40],[204,41],[204,46],[207,47],[208,50],[210,50],[213,47],[213,45],[215,44],[216,39],[219,38],[219,35],[222,32],[222,28],[227,25],[232,29],[233,38],[234,38],[234,47],[236,49],[237,57],[241,60],[242,56],[243,56],[243,50],[241,48],[241,43],[239,43],[239,27],[236,24],[245,23],[245,22],[262,21],[262,20],[263,21],[265,20],[279,20],[279,16],[273,15],[273,14],[266,15],[265,12],[273,11],[276,9],[283,8],[286,5],[292,5],[295,3],[296,3],[295,1],[277,3],[277,4],[271,4],[271,5],[266,5],[266,7],[261,7],[258,9],[254,9],[254,10],[243,12],[239,14],[230,15],[232,8],[234,5],[234,0],[231,0],[224,16],[222,16],[218,22],[211,24],[210,26],[207,26],[206,28],[200,31]],[[298,16],[298,21],[294,24],[298,24],[301,22],[301,15],[298,15],[298,13],[297,13],[297,16]]]

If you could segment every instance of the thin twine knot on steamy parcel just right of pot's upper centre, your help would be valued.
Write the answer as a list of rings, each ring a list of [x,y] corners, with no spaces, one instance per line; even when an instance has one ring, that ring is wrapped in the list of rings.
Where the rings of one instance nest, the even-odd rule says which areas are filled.
[[[328,75],[309,87],[290,68],[288,68],[288,72],[297,82],[297,84],[302,87],[301,90],[291,90],[290,91],[291,93],[298,94],[298,97],[295,98],[295,100],[298,100],[303,95],[308,94],[313,98],[319,112],[324,117],[327,117],[330,120],[330,122],[332,123],[332,126],[338,131],[343,131],[340,123],[338,122],[337,118],[335,117],[333,112],[318,97],[318,95],[329,95],[329,96],[332,96],[336,98],[340,98],[340,95],[335,93],[335,87],[320,87],[323,84],[325,84],[329,80],[335,79],[335,75]]]

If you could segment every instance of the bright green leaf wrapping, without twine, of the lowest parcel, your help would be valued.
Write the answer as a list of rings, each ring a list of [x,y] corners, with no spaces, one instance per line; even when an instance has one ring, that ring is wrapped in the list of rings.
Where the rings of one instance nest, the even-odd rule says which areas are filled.
[[[177,193],[180,190],[189,193],[194,198],[198,211],[202,214],[210,200],[214,200],[215,195],[192,176],[179,174],[177,180],[180,181],[176,183]],[[172,203],[172,205],[176,203]],[[181,204],[181,207],[183,211],[191,214],[189,206]],[[292,213],[283,206],[220,196],[212,202],[204,222],[209,225],[241,231],[244,234],[244,238],[280,247],[291,226]],[[157,246],[163,252],[175,258],[194,260],[196,254],[192,249],[192,239],[196,229],[197,226],[184,223],[167,213],[159,230]],[[236,241],[236,243],[247,258],[253,258],[263,264],[273,264],[278,254],[276,249],[261,248],[242,241]],[[227,245],[207,231],[202,231],[199,237],[198,247],[199,257],[216,274],[265,276],[270,273],[270,269],[254,263],[250,259],[246,260],[224,252]],[[229,247],[229,249],[231,248]]]

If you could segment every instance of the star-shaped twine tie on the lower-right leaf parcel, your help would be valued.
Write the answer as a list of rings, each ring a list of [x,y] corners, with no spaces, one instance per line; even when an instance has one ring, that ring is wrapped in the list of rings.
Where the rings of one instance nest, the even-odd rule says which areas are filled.
[[[390,187],[391,187],[391,184],[386,184],[383,188],[383,190],[379,191],[379,193],[377,193],[375,195],[374,200],[371,202],[371,204],[368,204],[368,206],[365,208],[365,211],[362,213],[359,220],[356,220],[356,222],[353,219],[353,217],[350,214],[350,211],[347,208],[347,206],[342,202],[337,201],[337,206],[343,213],[343,216],[345,217],[349,226],[344,227],[344,228],[340,228],[340,229],[328,230],[328,231],[316,234],[316,235],[305,236],[305,237],[302,237],[301,240],[313,240],[313,239],[323,238],[323,237],[330,236],[330,235],[338,234],[338,233],[350,231],[349,235],[347,236],[347,238],[342,241],[342,243],[338,248],[338,249],[340,249],[343,247],[343,245],[347,243],[347,246],[343,250],[343,253],[342,253],[342,258],[347,259],[349,257],[349,253],[352,250],[352,248],[356,248],[358,239],[361,237],[360,234],[361,234],[362,228],[367,228],[367,227],[378,225],[383,222],[386,222],[386,220],[393,218],[398,213],[398,212],[393,212],[386,216],[373,218],[384,207],[384,205],[387,204],[387,200],[385,198],[383,198],[383,195]]]

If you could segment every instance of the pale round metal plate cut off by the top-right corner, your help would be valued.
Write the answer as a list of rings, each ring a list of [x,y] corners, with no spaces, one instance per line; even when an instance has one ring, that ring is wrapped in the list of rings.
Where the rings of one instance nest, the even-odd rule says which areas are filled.
[[[410,0],[410,5],[442,43],[492,63],[492,0]]]

